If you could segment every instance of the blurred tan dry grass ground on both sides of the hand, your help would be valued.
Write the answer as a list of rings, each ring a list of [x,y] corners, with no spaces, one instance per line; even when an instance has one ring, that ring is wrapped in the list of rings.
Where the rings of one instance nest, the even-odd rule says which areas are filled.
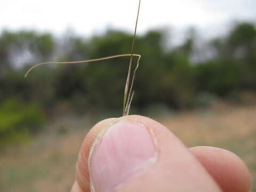
[[[157,120],[188,147],[206,145],[233,151],[249,166],[256,185],[255,106],[220,105]],[[87,118],[60,119],[26,146],[2,151],[0,191],[69,191],[79,147],[93,123]]]

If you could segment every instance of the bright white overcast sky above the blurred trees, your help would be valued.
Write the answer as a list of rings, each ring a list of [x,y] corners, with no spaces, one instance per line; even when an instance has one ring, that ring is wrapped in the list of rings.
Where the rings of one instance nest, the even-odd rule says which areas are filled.
[[[56,35],[72,29],[90,36],[108,28],[134,30],[138,0],[1,0],[0,30],[36,29]],[[138,33],[195,27],[214,36],[228,23],[256,18],[255,0],[141,0]]]

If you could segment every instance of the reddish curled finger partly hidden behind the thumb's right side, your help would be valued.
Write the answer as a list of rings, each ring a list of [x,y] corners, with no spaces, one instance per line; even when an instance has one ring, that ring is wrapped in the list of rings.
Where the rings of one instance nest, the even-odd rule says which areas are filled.
[[[228,150],[198,146],[189,148],[224,192],[247,192],[251,174],[244,162]]]

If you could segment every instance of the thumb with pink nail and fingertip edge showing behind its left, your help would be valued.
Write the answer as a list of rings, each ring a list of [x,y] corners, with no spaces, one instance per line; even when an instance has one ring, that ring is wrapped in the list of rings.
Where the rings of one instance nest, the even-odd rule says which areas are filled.
[[[152,119],[107,119],[93,129],[77,163],[77,181],[84,191],[89,191],[88,160],[90,180],[97,192],[220,191],[180,140]]]

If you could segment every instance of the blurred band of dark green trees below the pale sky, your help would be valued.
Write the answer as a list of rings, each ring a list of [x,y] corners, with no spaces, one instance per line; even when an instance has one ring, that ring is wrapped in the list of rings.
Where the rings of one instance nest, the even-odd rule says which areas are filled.
[[[51,114],[76,111],[96,115],[106,109],[121,114],[129,57],[38,67],[25,79],[23,75],[32,63],[13,67],[12,51],[29,50],[36,58],[34,65],[51,60],[86,60],[129,53],[132,38],[132,34],[124,31],[108,30],[87,39],[68,36],[59,40],[64,42],[61,43],[51,34],[3,31],[0,36],[0,102],[19,97],[22,101],[40,102]],[[204,106],[212,100],[209,95],[230,98],[234,93],[256,90],[253,23],[237,23],[226,36],[205,42],[203,47],[212,51],[212,57],[199,61],[191,60],[196,52],[195,30],[190,30],[178,47],[166,49],[166,40],[165,31],[161,30],[151,30],[137,37],[134,53],[141,54],[142,58],[132,106],[138,111],[154,103],[172,109]],[[57,44],[58,49],[55,49]],[[204,51],[199,55],[204,55]],[[134,67],[135,58],[133,61]]]

